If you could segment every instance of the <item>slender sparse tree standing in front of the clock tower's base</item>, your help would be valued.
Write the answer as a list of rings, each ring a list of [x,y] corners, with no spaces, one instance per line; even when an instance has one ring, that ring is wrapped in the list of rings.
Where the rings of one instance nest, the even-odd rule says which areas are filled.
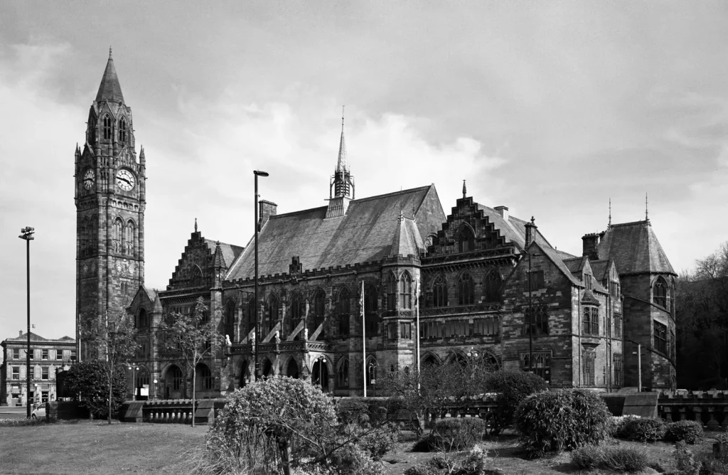
[[[111,424],[116,374],[124,372],[122,364],[133,358],[139,347],[133,317],[127,313],[112,313],[105,318],[98,318],[95,323],[88,322],[79,333],[87,345],[94,347],[92,353],[98,356],[98,361],[108,374],[108,423]]]

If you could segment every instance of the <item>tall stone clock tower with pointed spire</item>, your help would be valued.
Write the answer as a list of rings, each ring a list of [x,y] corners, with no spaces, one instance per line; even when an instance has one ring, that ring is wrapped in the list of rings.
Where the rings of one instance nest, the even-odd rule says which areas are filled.
[[[111,49],[92,103],[83,149],[76,145],[76,341],[79,329],[124,313],[144,282],[144,149],[135,150],[132,110],[124,103]]]

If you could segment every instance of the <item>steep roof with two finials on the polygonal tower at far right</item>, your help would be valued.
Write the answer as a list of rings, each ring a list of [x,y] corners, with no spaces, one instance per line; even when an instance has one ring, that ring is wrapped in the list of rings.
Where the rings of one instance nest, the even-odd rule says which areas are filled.
[[[649,221],[612,224],[598,244],[599,257],[612,258],[624,274],[675,274]]]

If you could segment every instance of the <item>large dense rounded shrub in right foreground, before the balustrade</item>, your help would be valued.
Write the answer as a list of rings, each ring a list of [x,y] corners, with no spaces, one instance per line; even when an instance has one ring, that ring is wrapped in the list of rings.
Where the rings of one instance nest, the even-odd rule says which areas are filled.
[[[521,447],[532,456],[596,445],[604,440],[611,413],[589,390],[535,393],[515,412]]]

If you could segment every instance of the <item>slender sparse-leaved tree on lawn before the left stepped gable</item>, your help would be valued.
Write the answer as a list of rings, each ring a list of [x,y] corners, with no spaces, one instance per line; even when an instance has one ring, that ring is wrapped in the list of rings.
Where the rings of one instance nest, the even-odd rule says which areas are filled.
[[[197,299],[191,313],[171,313],[162,321],[162,334],[167,351],[178,355],[178,360],[192,372],[192,426],[194,427],[195,393],[197,392],[197,364],[214,356],[215,348],[223,342],[223,336],[215,321],[210,318],[202,297]]]

